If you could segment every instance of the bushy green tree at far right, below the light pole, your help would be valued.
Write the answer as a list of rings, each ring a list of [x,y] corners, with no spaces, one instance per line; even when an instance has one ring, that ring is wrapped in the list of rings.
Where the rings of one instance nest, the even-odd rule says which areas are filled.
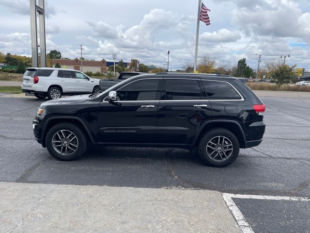
[[[295,67],[296,65],[281,65],[271,72],[271,76],[275,80],[275,83],[281,87],[283,84],[290,83],[290,81],[294,78],[295,73],[293,69]]]

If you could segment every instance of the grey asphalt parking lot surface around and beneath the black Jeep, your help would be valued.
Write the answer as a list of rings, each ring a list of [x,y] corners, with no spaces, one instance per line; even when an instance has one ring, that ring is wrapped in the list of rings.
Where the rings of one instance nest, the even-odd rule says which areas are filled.
[[[42,100],[0,98],[0,181],[180,187],[231,194],[310,198],[310,99],[262,97],[263,143],[241,150],[228,167],[203,165],[195,151],[92,147],[74,162],[52,158],[33,139]],[[310,232],[310,201],[233,198],[258,232]]]

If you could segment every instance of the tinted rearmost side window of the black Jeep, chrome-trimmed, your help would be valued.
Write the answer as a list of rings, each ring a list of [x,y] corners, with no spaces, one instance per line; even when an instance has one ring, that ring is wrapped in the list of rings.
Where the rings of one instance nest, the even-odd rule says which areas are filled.
[[[203,81],[209,100],[240,100],[241,97],[229,84],[223,82]]]

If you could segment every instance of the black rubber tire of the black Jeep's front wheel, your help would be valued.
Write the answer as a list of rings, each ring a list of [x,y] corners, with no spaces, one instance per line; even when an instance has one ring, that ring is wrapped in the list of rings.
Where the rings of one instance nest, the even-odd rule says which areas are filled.
[[[61,145],[62,143],[54,143],[54,146],[53,146],[53,142],[52,142],[52,139],[54,137],[54,141],[58,140],[58,136],[57,136],[57,132],[59,131],[63,131],[64,134],[66,134],[67,132],[71,132],[73,133],[77,139],[74,139],[74,141],[72,141],[73,143],[75,142],[78,142],[76,143],[77,147],[73,147],[71,146],[72,144],[70,144],[71,148],[74,148],[76,149],[74,152],[73,150],[70,150],[70,152],[72,153],[69,153],[69,149],[68,149],[68,154],[67,155],[64,155],[62,153],[59,153],[59,151],[57,151],[55,148],[61,148],[61,147],[54,147],[54,146],[57,146],[57,145]],[[66,135],[68,136],[68,134],[70,133],[67,133]],[[62,136],[63,134],[61,134]],[[72,138],[73,136],[71,136]],[[70,137],[68,139],[68,141],[70,140]],[[86,149],[87,149],[87,144],[88,144],[88,141],[87,141],[87,138],[86,138],[86,135],[85,133],[76,125],[74,124],[71,124],[71,123],[59,123],[57,125],[54,125],[48,132],[47,132],[47,136],[46,136],[46,145],[47,145],[47,150],[48,152],[53,156],[55,157],[56,159],[59,159],[59,160],[62,160],[62,161],[72,161],[72,160],[77,160],[79,159],[80,157],[82,157],[82,155],[85,153]],[[69,144],[66,144],[69,146]],[[64,147],[65,148],[65,147]],[[60,150],[60,149],[58,149]],[[64,149],[63,149],[64,150]],[[64,152],[64,151],[63,151]]]

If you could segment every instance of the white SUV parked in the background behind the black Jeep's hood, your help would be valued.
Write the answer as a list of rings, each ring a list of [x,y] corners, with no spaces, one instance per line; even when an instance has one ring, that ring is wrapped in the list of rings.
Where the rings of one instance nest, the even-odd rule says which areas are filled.
[[[92,79],[74,69],[27,68],[21,89],[37,98],[52,100],[62,95],[97,93],[99,79]]]

